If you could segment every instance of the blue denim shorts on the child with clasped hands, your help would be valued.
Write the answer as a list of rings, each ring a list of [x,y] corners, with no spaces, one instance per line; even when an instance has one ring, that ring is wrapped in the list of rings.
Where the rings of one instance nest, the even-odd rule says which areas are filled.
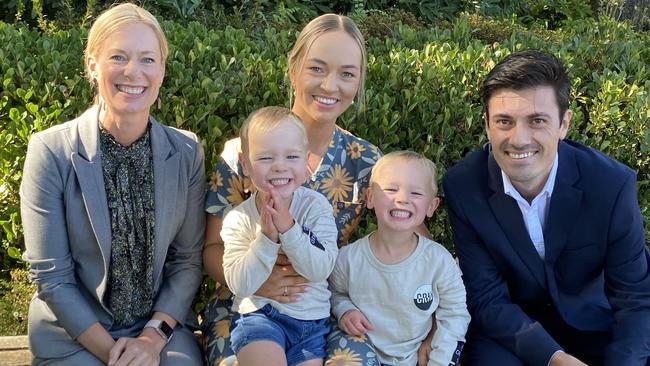
[[[230,323],[230,342],[235,354],[255,341],[272,341],[285,350],[287,365],[325,358],[329,319],[299,320],[281,314],[271,305],[248,314],[235,313]]]

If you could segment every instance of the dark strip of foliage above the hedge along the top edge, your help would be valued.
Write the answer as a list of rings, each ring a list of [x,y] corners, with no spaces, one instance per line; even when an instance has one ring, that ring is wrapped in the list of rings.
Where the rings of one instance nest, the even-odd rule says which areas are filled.
[[[186,23],[220,24],[223,16],[230,24],[277,17],[298,22],[318,14],[349,14],[366,11],[400,10],[425,22],[453,19],[463,11],[483,15],[510,15],[527,23],[543,21],[556,27],[566,19],[593,15],[597,1],[591,0],[130,0],[167,20]],[[86,22],[114,4],[115,0],[10,0],[0,4],[0,21],[22,21],[46,29]],[[121,0],[119,2],[122,2]],[[603,6],[604,7],[604,6]],[[621,6],[609,6],[617,9]],[[608,7],[608,8],[609,8]],[[592,9],[594,8],[594,9]],[[273,21],[272,19],[270,19]]]

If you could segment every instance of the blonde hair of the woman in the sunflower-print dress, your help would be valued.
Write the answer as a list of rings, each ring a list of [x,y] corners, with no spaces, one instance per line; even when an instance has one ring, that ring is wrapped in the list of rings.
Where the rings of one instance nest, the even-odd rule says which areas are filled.
[[[296,43],[293,45],[291,52],[289,52],[289,59],[287,61],[287,71],[289,79],[291,75],[297,76],[302,65],[305,62],[305,57],[311,48],[311,45],[314,43],[316,38],[318,38],[323,33],[332,32],[332,31],[344,31],[347,33],[359,46],[361,50],[361,70],[359,78],[359,88],[357,89],[357,102],[359,105],[359,110],[363,110],[365,107],[365,82],[366,82],[366,47],[363,34],[359,31],[357,25],[352,21],[352,19],[346,17],[345,15],[337,14],[323,14],[311,22],[309,22],[300,32]],[[291,85],[290,98],[293,95],[293,85]]]

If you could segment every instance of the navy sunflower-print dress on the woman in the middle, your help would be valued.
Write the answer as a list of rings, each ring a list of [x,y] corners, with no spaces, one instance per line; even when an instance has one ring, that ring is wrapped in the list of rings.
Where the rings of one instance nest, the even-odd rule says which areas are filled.
[[[250,179],[243,175],[238,160],[240,151],[238,138],[226,142],[210,176],[205,201],[207,213],[224,217],[234,206],[248,198],[254,189]],[[332,204],[339,247],[348,243],[361,221],[370,171],[380,157],[381,151],[376,146],[336,126],[320,166],[304,184],[322,193]],[[223,290],[225,288],[217,290],[204,314],[203,334],[207,337],[205,354],[209,365],[218,365],[232,355],[229,334],[223,323],[231,318],[232,299],[224,296]],[[352,354],[339,353],[336,359],[341,360],[348,355]],[[349,365],[357,364],[355,357],[350,357],[350,360]],[[358,364],[364,365],[364,360],[365,357],[361,356]]]

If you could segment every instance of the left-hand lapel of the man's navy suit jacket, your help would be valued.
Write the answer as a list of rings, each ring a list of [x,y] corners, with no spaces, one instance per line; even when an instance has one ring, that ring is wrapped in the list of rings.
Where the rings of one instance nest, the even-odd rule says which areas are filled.
[[[517,201],[503,192],[501,169],[491,153],[488,155],[488,174],[488,184],[494,191],[494,194],[490,196],[488,201],[494,217],[506,234],[510,245],[526,264],[533,277],[535,277],[542,288],[546,288],[544,263],[535,250],[533,242],[530,240]]]

